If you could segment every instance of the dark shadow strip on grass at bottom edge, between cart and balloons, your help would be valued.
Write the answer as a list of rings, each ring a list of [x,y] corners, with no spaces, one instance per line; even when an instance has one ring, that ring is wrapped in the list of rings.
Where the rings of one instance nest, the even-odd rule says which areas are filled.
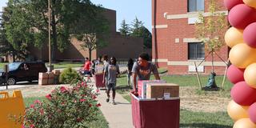
[[[179,125],[181,128],[186,127],[197,127],[197,128],[231,128],[232,126],[224,126],[218,124],[210,124],[210,123],[181,123]]]

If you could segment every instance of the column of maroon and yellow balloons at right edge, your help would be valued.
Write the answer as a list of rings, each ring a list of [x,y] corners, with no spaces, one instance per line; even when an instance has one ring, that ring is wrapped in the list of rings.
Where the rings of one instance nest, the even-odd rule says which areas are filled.
[[[224,0],[229,30],[225,42],[230,46],[227,78],[234,83],[227,112],[234,128],[256,128],[256,0]]]

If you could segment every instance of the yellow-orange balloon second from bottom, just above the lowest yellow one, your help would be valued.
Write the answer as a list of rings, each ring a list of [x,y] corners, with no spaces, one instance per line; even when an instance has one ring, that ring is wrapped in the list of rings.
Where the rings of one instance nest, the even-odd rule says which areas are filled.
[[[230,115],[230,118],[232,118],[235,122],[240,118],[249,118],[249,115],[247,113],[248,108],[249,106],[240,106],[232,100],[227,106],[227,113]]]

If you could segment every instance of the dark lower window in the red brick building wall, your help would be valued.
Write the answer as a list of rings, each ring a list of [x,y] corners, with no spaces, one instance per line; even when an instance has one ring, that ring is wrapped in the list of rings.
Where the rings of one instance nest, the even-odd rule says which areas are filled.
[[[190,42],[188,43],[189,59],[204,59],[205,58],[205,45],[201,42]]]

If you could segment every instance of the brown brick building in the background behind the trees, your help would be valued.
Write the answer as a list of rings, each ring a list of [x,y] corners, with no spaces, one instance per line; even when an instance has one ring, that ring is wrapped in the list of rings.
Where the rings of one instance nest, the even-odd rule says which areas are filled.
[[[137,58],[138,54],[143,51],[143,39],[123,37],[116,31],[116,11],[106,9],[104,12],[106,19],[110,22],[110,37],[108,38],[107,46],[101,49],[92,51],[92,59],[97,58],[102,54],[114,56],[118,60],[128,60],[128,58]],[[62,53],[56,52],[56,60],[84,60],[89,57],[88,50],[82,50],[80,46],[82,42],[78,42],[76,38],[71,38],[71,44],[68,49]],[[30,54],[33,58],[48,61],[48,46],[43,46],[41,50],[30,47]]]

